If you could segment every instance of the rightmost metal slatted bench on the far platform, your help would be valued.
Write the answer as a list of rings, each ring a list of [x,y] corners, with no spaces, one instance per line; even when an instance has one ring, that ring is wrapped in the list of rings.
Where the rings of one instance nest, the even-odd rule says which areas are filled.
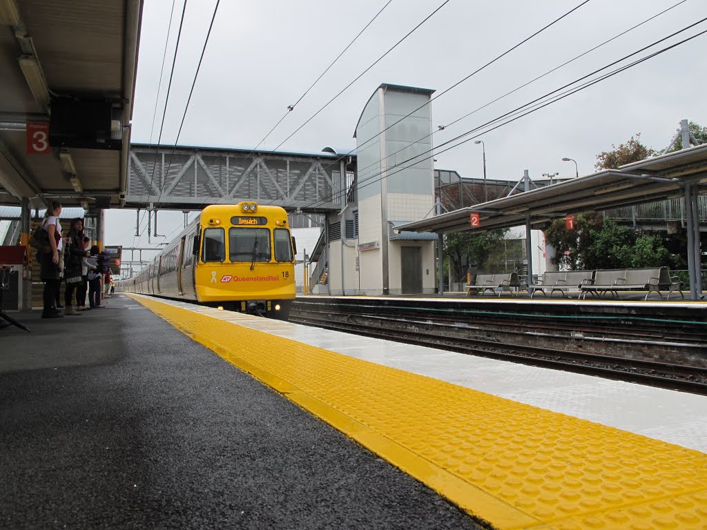
[[[667,267],[653,269],[597,269],[591,283],[580,286],[580,298],[587,298],[588,294],[597,298],[604,293],[611,293],[619,298],[619,291],[647,290],[645,298],[648,300],[650,293],[658,293],[662,300],[661,290],[667,290],[667,300],[677,291],[682,298],[683,282],[677,276],[670,276]]]

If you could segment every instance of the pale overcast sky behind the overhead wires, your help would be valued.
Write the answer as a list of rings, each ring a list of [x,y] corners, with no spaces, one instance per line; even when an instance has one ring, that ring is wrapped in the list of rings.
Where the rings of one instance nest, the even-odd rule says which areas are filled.
[[[386,2],[221,1],[178,143],[255,148],[285,114],[287,106],[305,93]],[[380,83],[431,88],[438,95],[581,3],[450,0],[281,149],[317,152],[325,146],[355,148],[356,122]],[[278,146],[441,4],[443,0],[392,0],[288,114],[264,147]],[[705,0],[590,0],[440,95],[432,102],[433,126],[450,124],[675,4],[679,5],[640,28],[438,132],[433,136],[434,145],[707,17]],[[144,5],[132,119],[134,142],[158,141],[183,1],[175,0],[168,38],[172,5],[169,0],[151,0]],[[187,3],[160,143],[177,141],[215,5],[216,0]],[[639,57],[706,29],[707,23],[697,25]],[[167,59],[160,86],[165,42]],[[486,145],[487,177],[516,181],[525,169],[538,179],[542,173],[573,176],[574,164],[562,162],[563,157],[575,159],[580,175],[585,175],[594,170],[597,153],[611,149],[612,144],[624,143],[632,135],[640,133],[643,143],[662,149],[670,143],[680,119],[707,125],[707,104],[702,95],[707,86],[706,45],[707,35],[697,37],[483,134],[479,139]],[[435,158],[438,168],[457,170],[464,177],[482,175],[481,146],[473,141]],[[106,220],[107,245],[147,246],[146,232],[134,237],[134,211],[107,211]],[[181,212],[160,212],[159,231],[168,235],[171,232],[174,237],[182,221]]]

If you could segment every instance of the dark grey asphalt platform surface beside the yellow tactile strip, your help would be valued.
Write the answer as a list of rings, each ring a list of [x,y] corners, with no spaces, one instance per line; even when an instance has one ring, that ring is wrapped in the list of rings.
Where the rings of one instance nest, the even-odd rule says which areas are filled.
[[[0,329],[0,528],[477,529],[124,295]]]

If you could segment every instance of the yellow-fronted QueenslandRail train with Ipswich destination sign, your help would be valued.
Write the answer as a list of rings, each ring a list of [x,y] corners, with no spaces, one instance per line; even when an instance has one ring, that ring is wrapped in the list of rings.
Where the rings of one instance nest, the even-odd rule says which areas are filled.
[[[286,319],[296,252],[283,208],[253,201],[206,206],[119,289]]]

